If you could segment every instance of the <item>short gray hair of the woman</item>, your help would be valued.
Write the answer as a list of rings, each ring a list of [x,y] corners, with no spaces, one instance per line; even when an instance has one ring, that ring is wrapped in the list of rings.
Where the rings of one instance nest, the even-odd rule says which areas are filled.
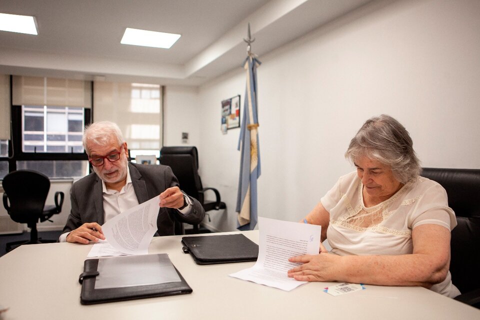
[[[401,183],[420,174],[420,161],[410,134],[400,122],[386,114],[366,120],[351,139],[345,157],[354,162],[361,156],[389,165]]]

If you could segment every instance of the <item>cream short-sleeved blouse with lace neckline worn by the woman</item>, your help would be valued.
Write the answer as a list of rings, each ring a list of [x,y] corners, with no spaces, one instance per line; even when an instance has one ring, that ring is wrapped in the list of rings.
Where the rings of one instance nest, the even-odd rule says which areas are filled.
[[[362,187],[353,171],[341,176],[320,199],[330,213],[327,238],[333,253],[408,254],[413,252],[411,230],[414,227],[428,223],[451,230],[456,226],[445,189],[435,181],[418,176],[389,199],[372,207],[364,206]],[[431,290],[451,297],[460,294],[451,283],[450,272]]]

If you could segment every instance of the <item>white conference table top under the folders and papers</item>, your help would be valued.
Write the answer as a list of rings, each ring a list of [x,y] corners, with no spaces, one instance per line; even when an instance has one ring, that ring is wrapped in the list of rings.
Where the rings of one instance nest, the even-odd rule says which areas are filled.
[[[227,234],[224,232],[212,234]],[[243,232],[258,243],[258,231]],[[80,304],[78,275],[91,245],[22,245],[0,258],[0,305],[10,319],[480,319],[480,310],[422,287],[365,285],[340,296],[311,282],[292,291],[228,274],[254,262],[197,265],[181,235],[154,237],[149,253],[168,253],[191,294]],[[374,272],[372,270],[372,272]]]

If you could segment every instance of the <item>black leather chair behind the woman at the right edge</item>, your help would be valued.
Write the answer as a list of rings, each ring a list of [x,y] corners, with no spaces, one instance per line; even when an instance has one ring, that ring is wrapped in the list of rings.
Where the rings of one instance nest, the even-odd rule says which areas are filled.
[[[455,299],[480,308],[480,169],[423,168],[421,175],[440,183],[455,211],[451,231],[451,281]]]

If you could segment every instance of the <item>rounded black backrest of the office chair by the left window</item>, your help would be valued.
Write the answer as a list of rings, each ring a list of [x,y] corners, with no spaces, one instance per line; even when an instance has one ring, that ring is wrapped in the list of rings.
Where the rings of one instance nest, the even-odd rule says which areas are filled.
[[[19,223],[36,223],[50,189],[48,177],[33,170],[17,170],[5,175],[2,187],[10,202],[8,213],[11,219]]]

